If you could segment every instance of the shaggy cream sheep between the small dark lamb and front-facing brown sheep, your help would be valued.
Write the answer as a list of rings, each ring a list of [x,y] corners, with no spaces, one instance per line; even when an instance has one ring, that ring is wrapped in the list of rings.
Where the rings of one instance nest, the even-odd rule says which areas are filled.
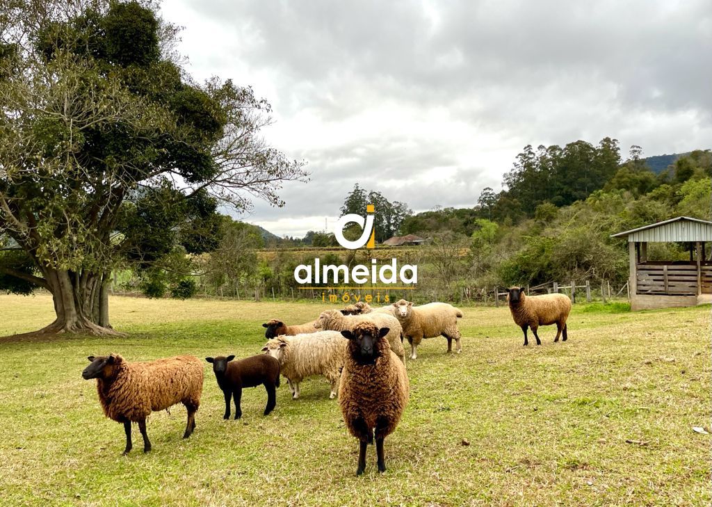
[[[295,336],[279,336],[262,348],[279,361],[287,378],[292,399],[299,398],[299,384],[306,377],[324,375],[331,384],[330,398],[339,389],[339,377],[346,357],[346,340],[335,331],[319,331]]]

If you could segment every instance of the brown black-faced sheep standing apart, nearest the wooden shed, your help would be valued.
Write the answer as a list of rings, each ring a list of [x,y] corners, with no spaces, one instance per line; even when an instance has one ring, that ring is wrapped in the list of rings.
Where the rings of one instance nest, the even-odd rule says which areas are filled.
[[[543,296],[526,296],[523,288],[512,287],[508,291],[509,310],[516,325],[524,332],[524,345],[529,345],[527,328],[532,328],[536,344],[541,345],[537,329],[540,325],[556,324],[555,342],[563,333],[567,340],[566,319],[571,311],[571,300],[564,294],[545,294]]]

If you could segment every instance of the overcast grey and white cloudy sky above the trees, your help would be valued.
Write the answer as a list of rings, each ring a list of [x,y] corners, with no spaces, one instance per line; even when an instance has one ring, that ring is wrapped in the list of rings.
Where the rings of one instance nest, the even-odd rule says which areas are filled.
[[[624,5],[625,4],[625,5]],[[302,236],[358,182],[415,211],[472,207],[525,145],[611,136],[645,155],[712,147],[712,2],[166,0],[188,70],[251,85],[265,137],[308,161]]]

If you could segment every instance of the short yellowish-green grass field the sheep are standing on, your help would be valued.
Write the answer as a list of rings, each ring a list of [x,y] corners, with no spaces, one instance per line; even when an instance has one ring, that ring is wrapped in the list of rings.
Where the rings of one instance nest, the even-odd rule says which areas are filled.
[[[105,419],[88,355],[128,360],[259,352],[263,323],[315,318],[316,303],[112,298],[124,338],[0,340],[0,503],[19,505],[708,505],[711,501],[710,308],[609,313],[577,305],[567,343],[522,347],[507,308],[464,308],[463,353],[426,340],[409,361],[411,399],[355,476],[347,434],[323,378],[261,412],[261,388],[243,395],[243,419],[224,403],[205,363],[197,429],[185,409],[150,417],[153,451],[122,456],[123,429]],[[41,327],[48,296],[0,296],[0,335]]]

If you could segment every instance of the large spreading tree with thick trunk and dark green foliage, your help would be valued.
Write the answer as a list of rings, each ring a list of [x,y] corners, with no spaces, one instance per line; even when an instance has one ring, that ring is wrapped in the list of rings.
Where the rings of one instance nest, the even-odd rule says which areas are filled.
[[[155,4],[11,0],[0,15],[0,288],[43,287],[43,332],[113,333],[107,285],[219,241],[220,205],[281,206],[303,164],[266,145],[270,106],[195,83]]]

